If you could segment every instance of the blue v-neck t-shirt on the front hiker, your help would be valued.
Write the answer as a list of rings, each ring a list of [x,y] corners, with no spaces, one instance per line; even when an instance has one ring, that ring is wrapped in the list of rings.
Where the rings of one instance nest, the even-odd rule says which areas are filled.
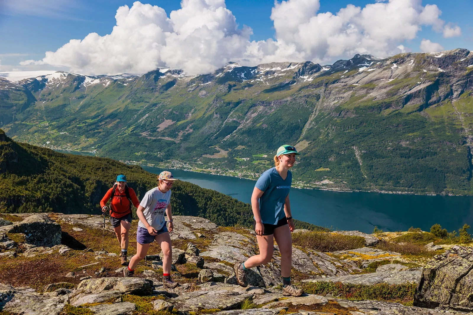
[[[288,170],[285,180],[281,178],[275,167],[261,174],[254,187],[264,191],[259,200],[263,223],[276,225],[279,220],[286,217],[284,202],[289,195],[291,184],[292,173],[290,170]]]

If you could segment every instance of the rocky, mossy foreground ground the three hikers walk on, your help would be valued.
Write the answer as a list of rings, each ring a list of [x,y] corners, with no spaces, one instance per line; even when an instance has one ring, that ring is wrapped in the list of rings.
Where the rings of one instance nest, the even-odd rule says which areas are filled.
[[[350,294],[304,294],[287,298],[281,294],[277,246],[269,264],[250,272],[247,288],[236,285],[232,265],[258,251],[254,231],[243,227],[218,227],[203,218],[175,216],[175,231],[171,234],[172,277],[180,286],[164,289],[162,257],[156,244],[137,267],[135,277],[123,278],[117,255],[120,248],[108,221],[102,237],[103,216],[61,213],[0,216],[3,218],[0,221],[2,315],[439,314],[455,308],[448,307],[448,303],[444,303],[447,307],[443,309],[429,309],[409,306],[412,301],[405,300],[401,301],[404,305],[386,299],[356,301],[360,299],[356,298],[356,290],[360,288],[404,288],[406,283],[417,284],[421,278],[429,277],[421,268],[428,257],[375,248],[379,238],[358,231],[337,233],[363,237],[366,247],[325,253],[293,247],[292,279],[299,286],[308,293],[320,293],[317,288],[336,282],[340,288],[352,286]],[[133,221],[131,255],[136,251],[136,225],[137,221]],[[443,250],[437,248],[437,252]],[[465,268],[472,269],[469,265]],[[428,288],[426,284],[424,291]],[[423,306],[432,306],[426,301],[429,297],[424,298]]]

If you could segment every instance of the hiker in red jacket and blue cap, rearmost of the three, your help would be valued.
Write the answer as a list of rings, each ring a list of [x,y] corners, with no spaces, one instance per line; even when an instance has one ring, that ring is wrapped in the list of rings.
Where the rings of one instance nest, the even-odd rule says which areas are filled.
[[[120,260],[123,266],[128,264],[126,255],[128,252],[128,231],[131,227],[131,204],[138,208],[140,201],[136,197],[133,188],[126,185],[125,175],[118,175],[117,182],[114,187],[108,189],[105,196],[100,201],[102,212],[107,211],[108,200],[110,202],[110,223],[114,227],[118,242],[122,247]]]

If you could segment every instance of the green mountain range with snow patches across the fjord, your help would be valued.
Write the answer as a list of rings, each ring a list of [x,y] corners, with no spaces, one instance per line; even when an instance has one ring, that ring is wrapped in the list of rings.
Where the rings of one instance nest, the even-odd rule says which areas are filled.
[[[472,90],[466,49],[200,76],[0,73],[0,127],[56,150],[247,178],[290,144],[298,187],[470,195]]]

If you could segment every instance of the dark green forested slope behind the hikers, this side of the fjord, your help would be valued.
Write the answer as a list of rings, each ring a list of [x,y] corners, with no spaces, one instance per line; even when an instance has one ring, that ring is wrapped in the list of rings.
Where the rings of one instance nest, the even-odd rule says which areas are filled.
[[[125,174],[138,198],[156,187],[156,175],[139,166],[108,158],[55,152],[17,143],[0,129],[0,212],[101,213],[99,202]],[[251,226],[251,206],[215,190],[189,182],[175,183],[171,204],[175,215],[207,218],[223,226]],[[136,209],[135,209],[136,210]],[[298,228],[322,229],[307,222]]]

